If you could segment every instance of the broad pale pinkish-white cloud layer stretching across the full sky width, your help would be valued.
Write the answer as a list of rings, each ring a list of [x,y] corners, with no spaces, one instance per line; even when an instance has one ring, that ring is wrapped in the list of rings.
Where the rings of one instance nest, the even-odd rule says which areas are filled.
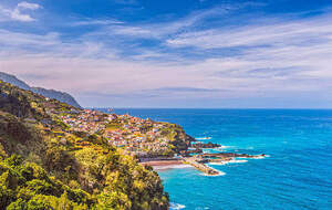
[[[186,99],[332,93],[331,17],[279,19],[232,29],[193,31],[193,25],[206,15],[209,14],[196,14],[158,27],[122,23],[124,25],[105,27],[66,41],[59,33],[37,35],[1,30],[0,71],[22,76],[41,75],[28,82],[77,95],[138,92],[144,97],[144,90],[162,87],[169,87],[168,91],[176,90],[173,87],[225,90],[168,95]],[[87,20],[81,25],[104,24],[102,20],[96,21]],[[184,32],[184,28],[188,28],[188,32]],[[131,56],[129,49],[113,44],[118,34],[158,39],[165,49],[158,52],[158,49],[137,46],[139,53]],[[183,46],[189,50],[177,51]],[[210,55],[212,50],[219,52],[220,49],[237,49],[239,53],[225,51]],[[118,51],[128,53],[123,56]],[[191,53],[203,55],[187,56]],[[151,57],[157,57],[157,62]],[[169,57],[177,57],[178,62],[165,62]]]

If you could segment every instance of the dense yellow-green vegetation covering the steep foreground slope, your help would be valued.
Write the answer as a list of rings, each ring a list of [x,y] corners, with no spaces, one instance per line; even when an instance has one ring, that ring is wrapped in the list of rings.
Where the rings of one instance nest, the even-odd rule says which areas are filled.
[[[0,81],[0,209],[168,209],[152,168],[50,108],[75,109]]]

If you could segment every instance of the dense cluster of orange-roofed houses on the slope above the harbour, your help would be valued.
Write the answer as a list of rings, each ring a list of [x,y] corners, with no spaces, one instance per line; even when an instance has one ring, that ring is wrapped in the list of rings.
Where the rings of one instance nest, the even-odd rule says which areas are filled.
[[[165,155],[170,151],[167,124],[131,115],[105,114],[98,111],[72,109],[58,115],[71,130],[98,133],[110,145],[121,147],[133,155]]]

